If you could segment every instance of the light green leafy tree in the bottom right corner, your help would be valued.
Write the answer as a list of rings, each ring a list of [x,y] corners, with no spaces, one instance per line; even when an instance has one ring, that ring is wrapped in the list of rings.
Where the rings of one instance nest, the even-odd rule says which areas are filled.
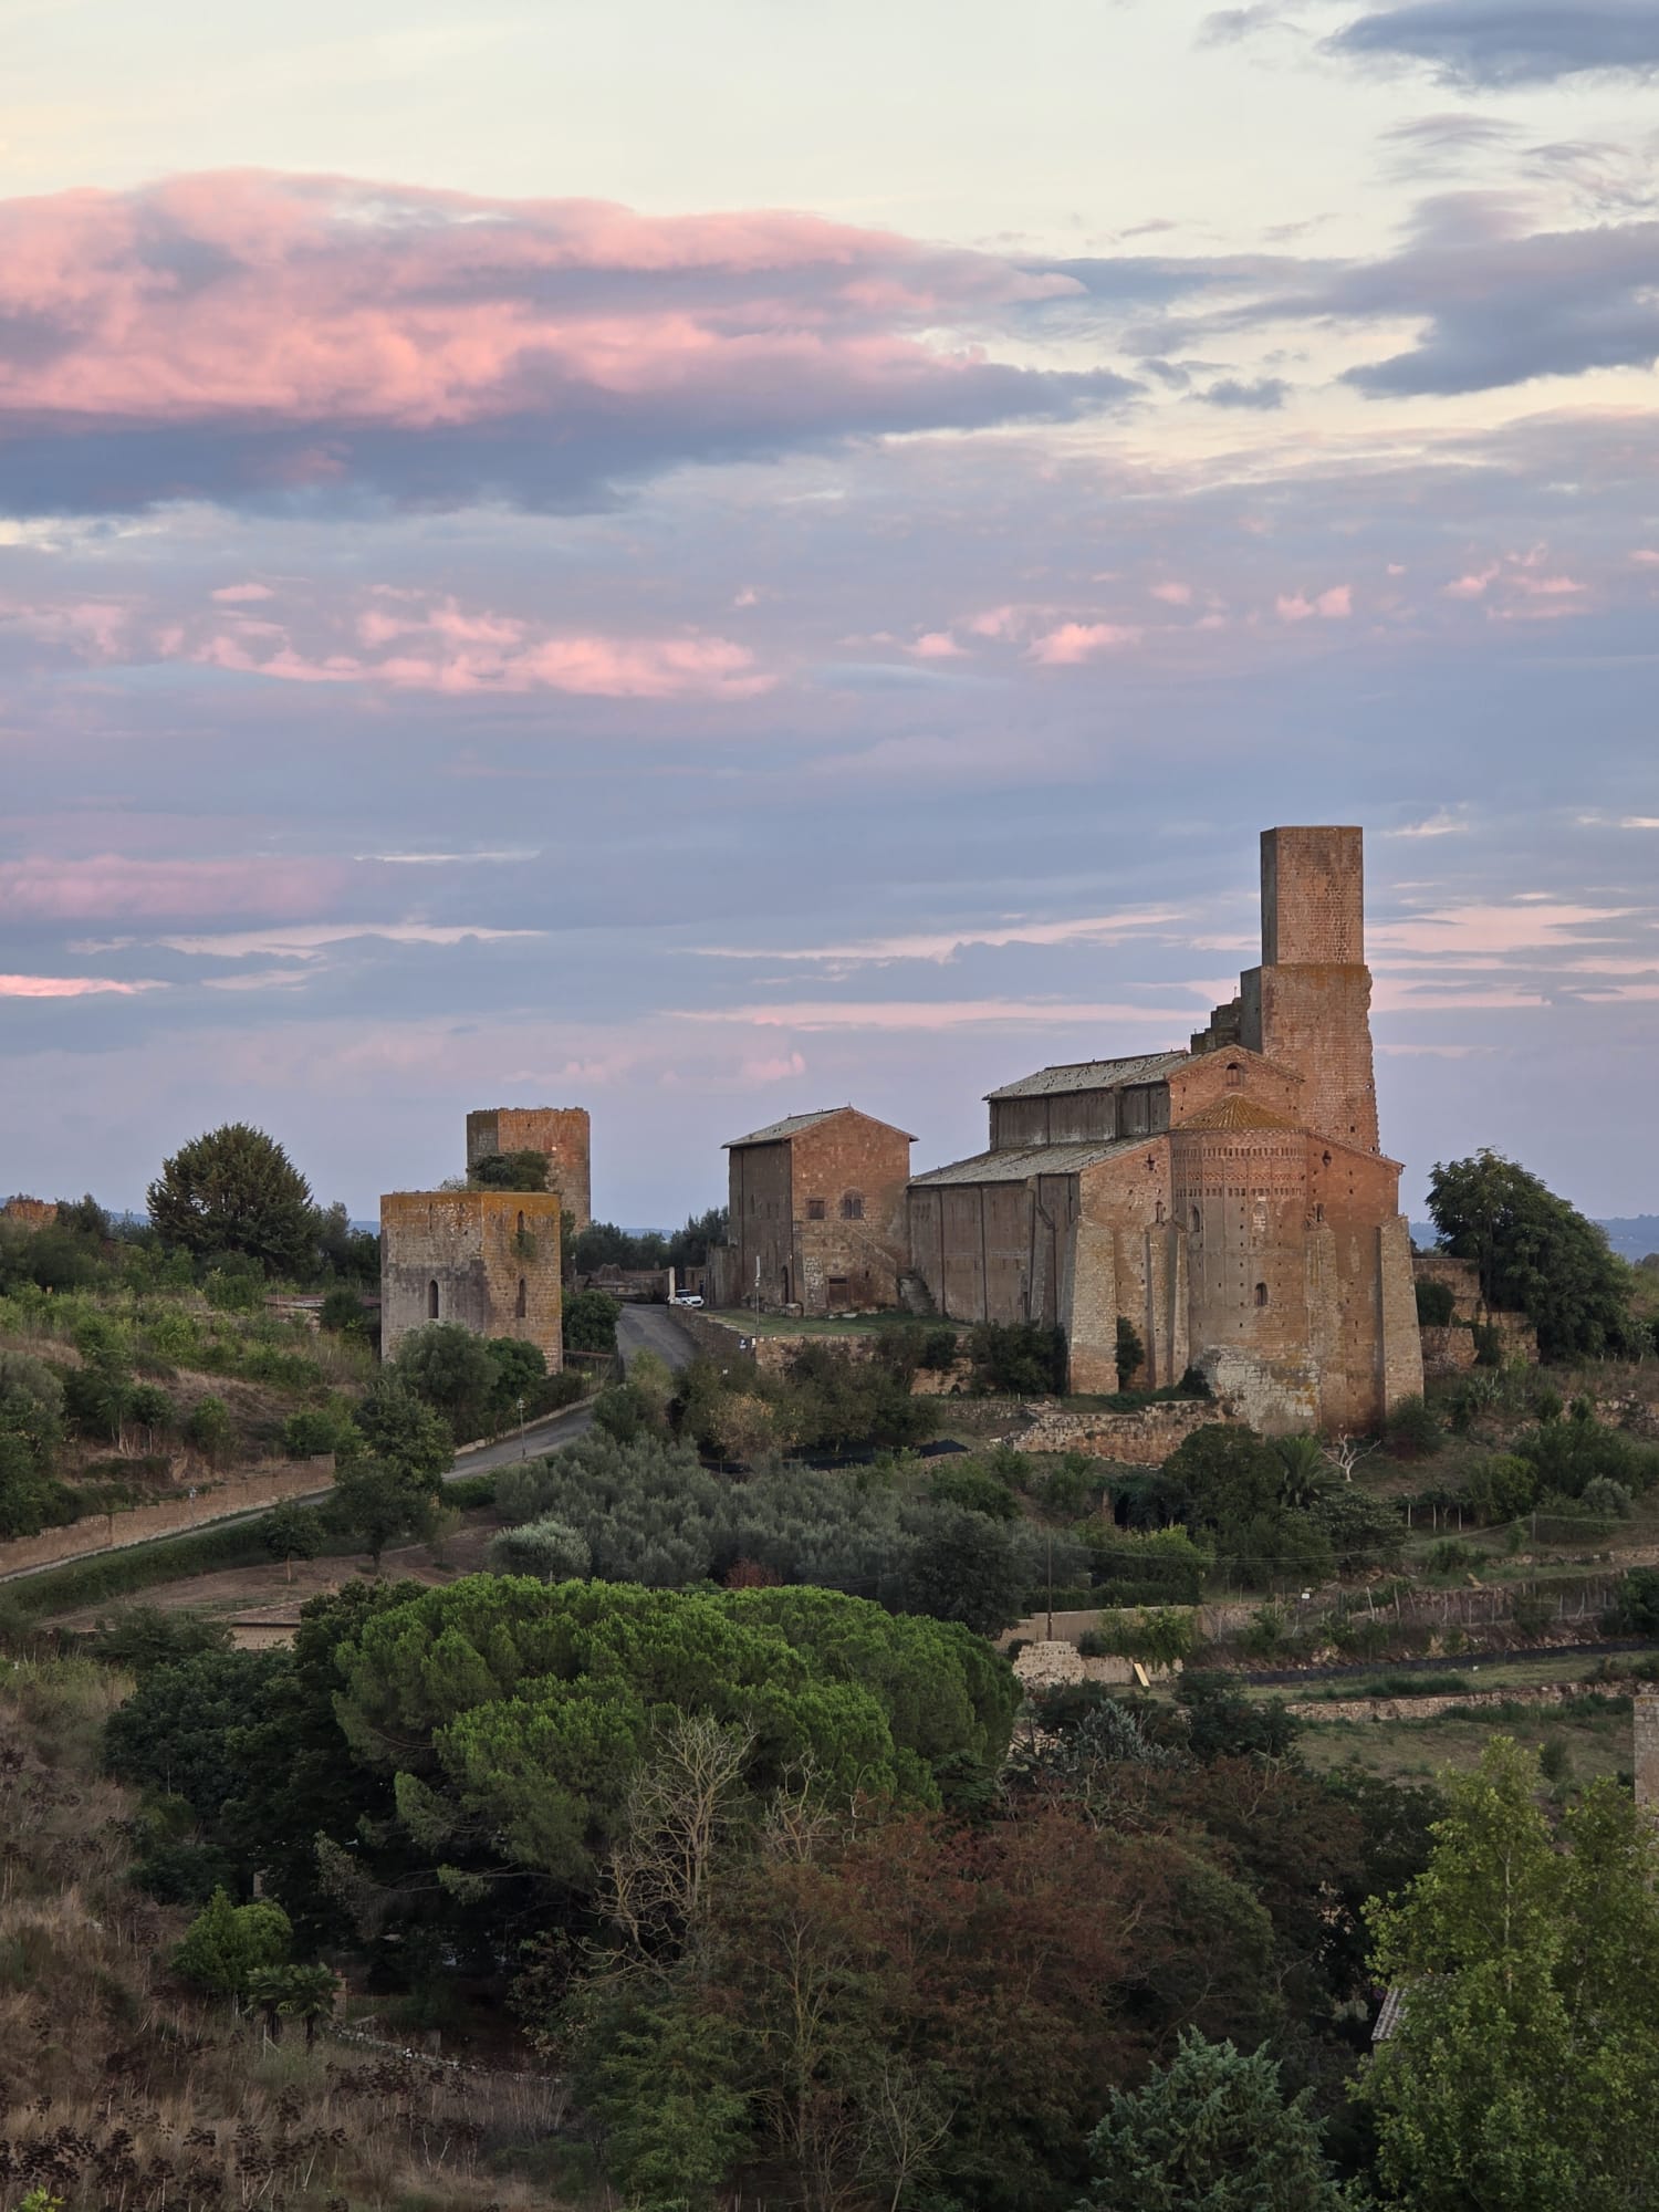
[[[1659,1832],[1613,1781],[1551,1834],[1533,1752],[1444,1778],[1427,1869],[1376,1905],[1400,2017],[1356,2088],[1385,2203],[1624,2212],[1659,2192]]]

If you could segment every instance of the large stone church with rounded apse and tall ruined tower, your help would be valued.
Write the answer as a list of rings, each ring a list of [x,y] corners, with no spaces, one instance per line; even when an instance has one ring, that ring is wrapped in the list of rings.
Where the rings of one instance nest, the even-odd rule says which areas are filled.
[[[1378,1148],[1358,830],[1261,838],[1261,967],[1183,1051],[1042,1068],[989,1148],[909,1186],[953,1321],[1066,1332],[1071,1387],[1188,1367],[1267,1431],[1358,1429],[1422,1389],[1400,1166]]]

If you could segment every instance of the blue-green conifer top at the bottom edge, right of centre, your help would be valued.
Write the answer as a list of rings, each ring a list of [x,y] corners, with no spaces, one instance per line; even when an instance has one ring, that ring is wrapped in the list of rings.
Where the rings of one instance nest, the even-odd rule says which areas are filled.
[[[1265,2051],[1188,2028],[1141,2088],[1113,2090],[1079,2212],[1340,2212],[1352,2199],[1325,2166],[1312,2099],[1285,2099]]]

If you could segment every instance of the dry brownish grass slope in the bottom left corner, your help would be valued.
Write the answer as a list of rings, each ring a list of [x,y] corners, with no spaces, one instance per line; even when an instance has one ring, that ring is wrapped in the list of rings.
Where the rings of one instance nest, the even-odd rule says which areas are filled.
[[[290,2026],[272,2044],[168,1973],[186,1916],[126,1880],[135,1805],[97,1774],[126,1683],[0,1668],[0,2203],[66,2212],[577,2212],[564,2093]]]

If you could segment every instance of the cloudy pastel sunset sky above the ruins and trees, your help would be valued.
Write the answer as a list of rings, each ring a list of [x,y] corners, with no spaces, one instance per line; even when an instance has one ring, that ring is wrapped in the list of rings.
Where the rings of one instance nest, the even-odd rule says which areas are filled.
[[[1655,0],[0,0],[0,1186],[1181,1044],[1659,1212]]]

